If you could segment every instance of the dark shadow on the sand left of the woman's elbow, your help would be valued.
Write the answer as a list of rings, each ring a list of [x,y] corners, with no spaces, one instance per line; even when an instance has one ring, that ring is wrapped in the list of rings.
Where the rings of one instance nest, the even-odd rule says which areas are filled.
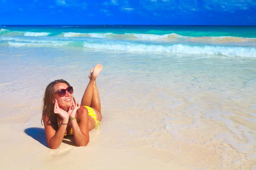
[[[31,136],[33,139],[37,140],[39,143],[43,144],[44,146],[48,147],[44,128],[40,127],[29,127],[24,130],[24,132]]]

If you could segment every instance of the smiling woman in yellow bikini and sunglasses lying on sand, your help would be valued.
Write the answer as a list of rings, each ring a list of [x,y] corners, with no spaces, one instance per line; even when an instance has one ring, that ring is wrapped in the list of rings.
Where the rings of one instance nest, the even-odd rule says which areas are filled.
[[[89,131],[99,128],[102,115],[96,77],[102,68],[98,64],[90,70],[90,82],[81,107],[73,98],[73,87],[65,80],[55,80],[45,89],[42,120],[51,149],[57,149],[66,135],[73,135],[78,146],[86,146],[90,140]]]

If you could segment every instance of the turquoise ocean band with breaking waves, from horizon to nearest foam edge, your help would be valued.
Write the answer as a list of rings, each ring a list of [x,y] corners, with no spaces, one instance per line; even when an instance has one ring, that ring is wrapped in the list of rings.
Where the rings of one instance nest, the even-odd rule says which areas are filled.
[[[1,45],[255,57],[256,26],[2,26]]]

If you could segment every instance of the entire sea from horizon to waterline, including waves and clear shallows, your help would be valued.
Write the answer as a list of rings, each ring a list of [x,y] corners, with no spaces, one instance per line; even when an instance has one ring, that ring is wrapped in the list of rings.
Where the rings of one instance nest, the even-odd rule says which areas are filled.
[[[0,56],[7,100],[41,101],[58,78],[82,94],[82,79],[102,63],[103,110],[153,117],[148,124],[134,113],[142,122],[128,127],[130,136],[164,130],[181,142],[221,141],[239,161],[256,158],[256,26],[2,26]],[[171,145],[157,141],[151,145]]]

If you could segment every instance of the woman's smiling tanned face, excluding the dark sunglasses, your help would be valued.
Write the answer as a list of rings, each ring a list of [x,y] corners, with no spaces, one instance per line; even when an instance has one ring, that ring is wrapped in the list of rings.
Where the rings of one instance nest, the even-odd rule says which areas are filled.
[[[67,87],[68,85],[66,83],[58,83],[54,86],[54,92],[59,89],[66,89]],[[68,91],[66,91],[63,97],[59,96],[58,93],[54,94],[52,99],[53,103],[55,103],[55,99],[57,99],[59,107],[64,110],[73,105],[73,94],[70,94]]]

